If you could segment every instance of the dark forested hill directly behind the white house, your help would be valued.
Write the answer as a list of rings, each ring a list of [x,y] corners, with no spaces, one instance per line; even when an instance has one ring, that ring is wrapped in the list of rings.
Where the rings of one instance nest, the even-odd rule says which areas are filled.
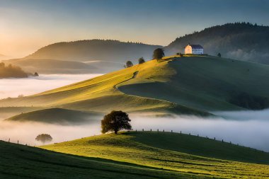
[[[205,28],[176,38],[165,47],[166,54],[183,52],[188,42],[200,44],[205,53],[241,59],[248,62],[269,64],[269,27],[251,23],[227,23]]]

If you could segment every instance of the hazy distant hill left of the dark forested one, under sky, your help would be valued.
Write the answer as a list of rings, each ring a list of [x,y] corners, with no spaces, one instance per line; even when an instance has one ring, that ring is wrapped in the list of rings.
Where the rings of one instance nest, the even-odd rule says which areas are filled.
[[[25,58],[64,59],[77,62],[91,60],[126,62],[127,59],[139,57],[151,58],[152,52],[159,47],[161,46],[118,40],[79,40],[47,45]]]

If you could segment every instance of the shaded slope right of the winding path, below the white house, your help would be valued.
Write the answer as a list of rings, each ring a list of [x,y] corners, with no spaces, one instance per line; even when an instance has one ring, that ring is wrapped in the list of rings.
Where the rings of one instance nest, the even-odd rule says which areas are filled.
[[[136,79],[121,83],[120,91],[135,96],[168,100],[199,110],[242,110],[249,103],[268,108],[269,66],[217,57],[173,57],[165,70],[151,74],[139,71]],[[169,75],[173,73],[172,75]],[[144,79],[140,81],[139,79]],[[145,81],[147,79],[147,81]],[[164,83],[165,81],[165,83]],[[248,94],[246,105],[234,103],[241,94]],[[262,101],[258,97],[263,98]]]

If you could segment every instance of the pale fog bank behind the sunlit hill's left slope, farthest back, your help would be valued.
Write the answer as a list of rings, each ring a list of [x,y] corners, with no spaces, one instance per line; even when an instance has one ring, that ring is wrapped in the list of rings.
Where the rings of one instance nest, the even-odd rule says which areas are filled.
[[[71,83],[92,79],[101,74],[41,74],[27,79],[1,79],[0,99],[14,98],[19,95],[29,96]]]

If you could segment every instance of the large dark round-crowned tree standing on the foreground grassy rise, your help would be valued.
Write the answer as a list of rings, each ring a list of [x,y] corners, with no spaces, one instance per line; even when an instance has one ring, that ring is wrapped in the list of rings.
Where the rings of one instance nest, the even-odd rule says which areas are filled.
[[[126,112],[113,110],[101,120],[101,132],[103,134],[105,134],[105,132],[115,132],[115,134],[118,134],[118,131],[121,129],[130,130],[132,129],[130,122],[131,120]]]

